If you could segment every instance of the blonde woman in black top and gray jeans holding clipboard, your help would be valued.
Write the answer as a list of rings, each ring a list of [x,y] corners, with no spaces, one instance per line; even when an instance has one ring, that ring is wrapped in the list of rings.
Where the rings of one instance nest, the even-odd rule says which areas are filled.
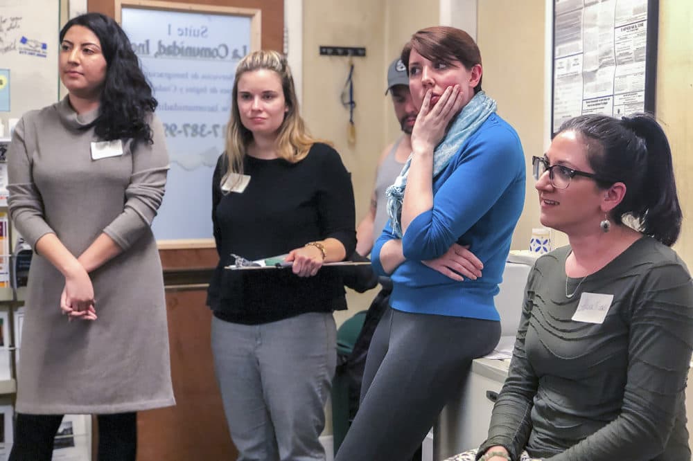
[[[212,348],[239,460],[324,460],[318,437],[345,309],[333,269],[353,252],[353,191],[339,154],[306,134],[286,59],[238,64],[227,149],[212,184],[220,264],[209,287]],[[229,271],[288,254],[289,269]]]

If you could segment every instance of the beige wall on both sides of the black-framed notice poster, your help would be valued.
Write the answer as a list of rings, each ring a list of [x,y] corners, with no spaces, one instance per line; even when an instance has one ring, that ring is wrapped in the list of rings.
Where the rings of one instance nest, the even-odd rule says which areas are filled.
[[[513,238],[514,249],[527,247],[538,226],[538,201],[529,159],[543,152],[545,0],[494,0],[477,4],[477,42],[484,61],[484,89],[498,101],[498,111],[513,125],[527,157],[527,199]],[[498,33],[502,30],[503,33]],[[511,46],[509,46],[511,44]],[[693,3],[660,1],[656,116],[672,143],[684,222],[676,250],[693,266]],[[567,243],[554,235],[556,243]]]

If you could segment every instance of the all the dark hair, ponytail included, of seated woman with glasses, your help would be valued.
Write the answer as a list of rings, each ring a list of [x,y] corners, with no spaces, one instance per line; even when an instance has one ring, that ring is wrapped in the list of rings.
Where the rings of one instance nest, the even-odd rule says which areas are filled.
[[[585,115],[566,120],[560,132],[579,133],[588,145],[590,166],[603,178],[597,181],[608,188],[619,181],[626,185],[626,195],[611,210],[611,219],[623,223],[630,215],[639,230],[667,246],[681,233],[683,215],[678,204],[672,150],[662,127],[645,114],[617,119],[602,115]]]

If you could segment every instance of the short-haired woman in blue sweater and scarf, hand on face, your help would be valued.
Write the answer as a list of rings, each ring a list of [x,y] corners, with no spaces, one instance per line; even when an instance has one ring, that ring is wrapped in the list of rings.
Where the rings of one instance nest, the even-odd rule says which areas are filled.
[[[419,30],[402,61],[420,111],[410,160],[387,192],[391,220],[371,253],[394,283],[392,308],[371,342],[362,404],[337,461],[411,458],[471,361],[493,350],[493,296],[525,199],[522,146],[481,89],[473,39]]]

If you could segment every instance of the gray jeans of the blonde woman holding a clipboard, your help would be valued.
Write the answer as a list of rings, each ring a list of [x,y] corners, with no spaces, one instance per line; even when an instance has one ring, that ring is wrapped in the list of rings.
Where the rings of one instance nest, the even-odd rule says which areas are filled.
[[[330,313],[262,325],[212,318],[214,366],[239,461],[325,459],[319,435],[336,341]]]

